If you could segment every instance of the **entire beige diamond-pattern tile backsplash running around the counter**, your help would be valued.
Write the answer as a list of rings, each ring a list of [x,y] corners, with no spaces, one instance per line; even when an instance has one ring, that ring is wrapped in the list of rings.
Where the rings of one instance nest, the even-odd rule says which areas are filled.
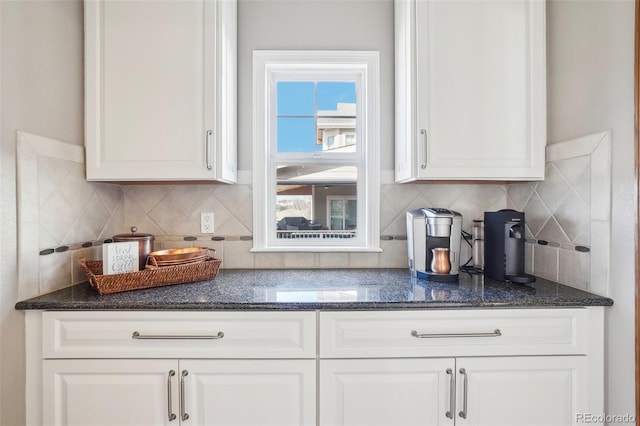
[[[552,153],[560,151],[561,144],[556,145],[549,147]],[[83,147],[18,132],[20,297],[85,281],[78,257],[99,259],[105,239],[129,232],[134,225],[139,232],[155,235],[156,250],[215,249],[223,268],[404,268],[405,212],[428,206],[460,212],[468,232],[485,211],[524,210],[529,271],[589,288],[590,253],[575,247],[588,250],[593,232],[601,229],[594,224],[599,217],[593,209],[589,213],[595,186],[589,176],[595,163],[589,160],[591,153],[573,153],[575,160],[553,155],[558,158],[547,164],[545,182],[381,185],[381,253],[251,253],[251,185],[87,182]],[[606,185],[598,181],[597,186]],[[599,192],[596,198],[601,201]],[[199,233],[203,211],[215,214],[213,235]],[[463,257],[470,253],[463,243]]]

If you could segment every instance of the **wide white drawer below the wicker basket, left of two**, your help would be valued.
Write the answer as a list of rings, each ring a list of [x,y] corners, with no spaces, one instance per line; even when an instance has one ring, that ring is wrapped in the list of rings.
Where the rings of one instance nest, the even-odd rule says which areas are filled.
[[[315,312],[47,311],[44,358],[315,358]]]

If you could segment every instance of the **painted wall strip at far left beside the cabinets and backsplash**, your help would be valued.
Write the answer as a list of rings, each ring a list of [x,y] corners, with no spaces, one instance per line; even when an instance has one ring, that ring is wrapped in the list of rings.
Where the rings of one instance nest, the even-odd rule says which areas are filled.
[[[16,276],[17,129],[83,143],[82,1],[0,1],[0,424],[24,424]],[[34,265],[36,267],[37,265]]]

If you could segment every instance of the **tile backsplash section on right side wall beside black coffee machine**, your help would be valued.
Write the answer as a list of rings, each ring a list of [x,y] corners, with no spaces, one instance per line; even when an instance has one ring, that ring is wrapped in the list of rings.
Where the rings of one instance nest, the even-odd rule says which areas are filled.
[[[524,211],[528,272],[606,295],[611,244],[611,132],[550,144],[545,180],[507,185]]]

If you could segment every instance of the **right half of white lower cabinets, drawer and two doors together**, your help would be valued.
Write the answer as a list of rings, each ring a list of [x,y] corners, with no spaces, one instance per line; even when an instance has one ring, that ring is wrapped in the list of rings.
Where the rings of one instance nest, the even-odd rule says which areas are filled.
[[[321,312],[320,426],[571,426],[603,410],[603,311]]]

